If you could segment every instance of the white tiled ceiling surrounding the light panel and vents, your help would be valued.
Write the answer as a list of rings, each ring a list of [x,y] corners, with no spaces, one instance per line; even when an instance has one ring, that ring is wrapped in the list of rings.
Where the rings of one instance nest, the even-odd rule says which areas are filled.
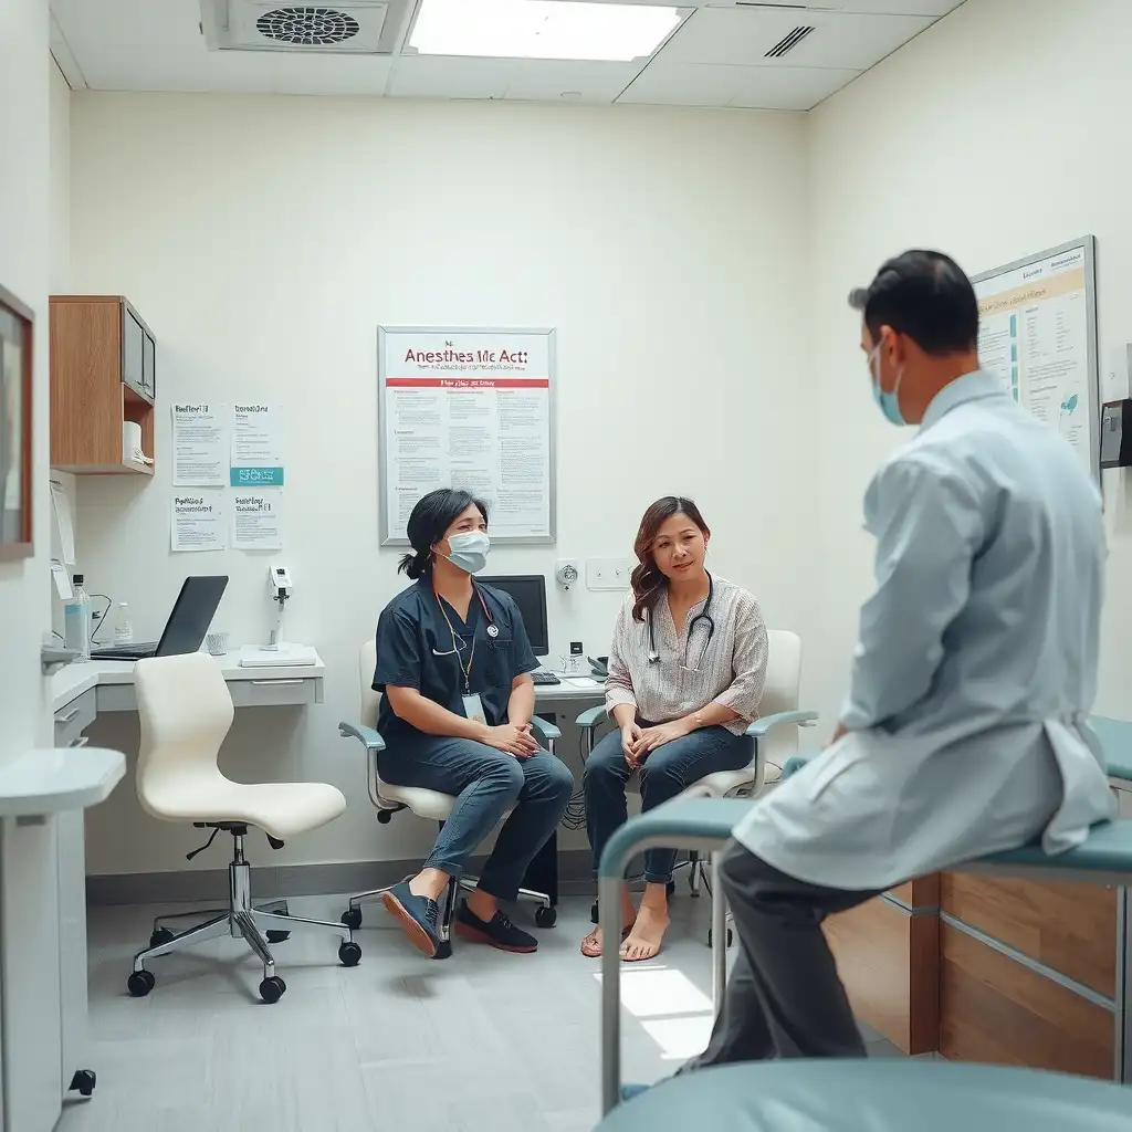
[[[79,89],[809,110],[962,2],[683,0],[687,19],[652,59],[607,63],[209,51],[200,0],[51,0],[52,51]],[[400,18],[398,48],[409,28]],[[784,58],[766,58],[799,25],[814,31]]]

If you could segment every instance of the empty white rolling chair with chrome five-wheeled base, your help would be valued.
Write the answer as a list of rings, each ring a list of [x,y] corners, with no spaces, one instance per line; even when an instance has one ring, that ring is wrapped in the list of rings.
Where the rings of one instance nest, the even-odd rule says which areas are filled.
[[[220,830],[232,834],[233,856],[229,865],[229,906],[197,927],[174,935],[162,920],[154,920],[149,946],[134,957],[127,987],[136,998],[155,986],[146,961],[195,946],[222,935],[242,938],[264,964],[259,994],[277,1002],[286,984],[275,974],[268,943],[281,943],[292,928],[333,932],[342,943],[338,960],[353,967],[361,947],[341,924],[303,919],[288,912],[286,902],[261,906],[251,902],[251,871],[243,857],[248,826],[267,834],[273,849],[295,833],[318,829],[337,817],[346,806],[342,791],[325,782],[265,782],[245,784],[225,778],[217,765],[221,744],[232,726],[232,697],[217,662],[207,653],[139,660],[134,669],[142,745],[136,775],[143,808],[164,822],[191,822],[211,829],[201,849],[212,844]],[[191,860],[201,849],[188,855]],[[187,912],[185,916],[207,916]],[[264,937],[266,934],[266,938]]]

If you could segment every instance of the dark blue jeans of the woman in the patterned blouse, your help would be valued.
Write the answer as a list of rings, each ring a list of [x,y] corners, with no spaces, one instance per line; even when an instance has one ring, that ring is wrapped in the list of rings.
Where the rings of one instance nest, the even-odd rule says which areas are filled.
[[[645,724],[642,723],[642,727]],[[751,763],[755,740],[732,735],[726,727],[704,727],[658,747],[641,767],[641,808],[669,801],[705,774],[738,771]],[[598,868],[606,842],[628,816],[625,786],[633,769],[625,761],[621,732],[610,731],[593,748],[585,764],[585,826]],[[650,849],[644,855],[648,884],[667,884],[676,864],[675,849]]]

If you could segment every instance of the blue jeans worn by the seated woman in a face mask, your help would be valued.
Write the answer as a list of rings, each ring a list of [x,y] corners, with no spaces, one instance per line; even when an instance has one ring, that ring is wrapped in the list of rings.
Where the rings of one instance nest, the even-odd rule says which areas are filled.
[[[541,748],[521,760],[472,739],[419,735],[398,738],[378,756],[381,781],[438,790],[456,798],[426,868],[452,876],[514,806],[480,876],[480,887],[498,900],[514,900],[534,855],[566,813],[574,775]]]

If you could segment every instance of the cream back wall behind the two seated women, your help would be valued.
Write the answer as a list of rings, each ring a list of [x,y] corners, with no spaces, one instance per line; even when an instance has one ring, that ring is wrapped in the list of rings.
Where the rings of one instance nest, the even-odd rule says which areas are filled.
[[[492,571],[628,554],[644,506],[680,491],[714,529],[715,568],[771,624],[809,616],[798,563],[816,482],[791,423],[812,412],[800,118],[83,94],[71,125],[74,288],[127,294],[158,342],[157,475],[79,482],[84,569],[130,602],[139,638],[191,572],[231,575],[217,628],[266,634],[263,556],[170,554],[169,405],[286,406],[289,636],[326,660],[326,703],[240,712],[223,764],[334,782],[349,807],[272,861],[411,857],[431,839],[376,823],[335,728],[402,584],[377,547],[379,323],[558,328],[558,546],[500,549]],[[554,592],[554,650],[606,652],[619,600]],[[92,735],[136,751],[136,720]],[[87,827],[92,874],[222,863],[187,866],[197,833],[148,818],[128,789]]]

